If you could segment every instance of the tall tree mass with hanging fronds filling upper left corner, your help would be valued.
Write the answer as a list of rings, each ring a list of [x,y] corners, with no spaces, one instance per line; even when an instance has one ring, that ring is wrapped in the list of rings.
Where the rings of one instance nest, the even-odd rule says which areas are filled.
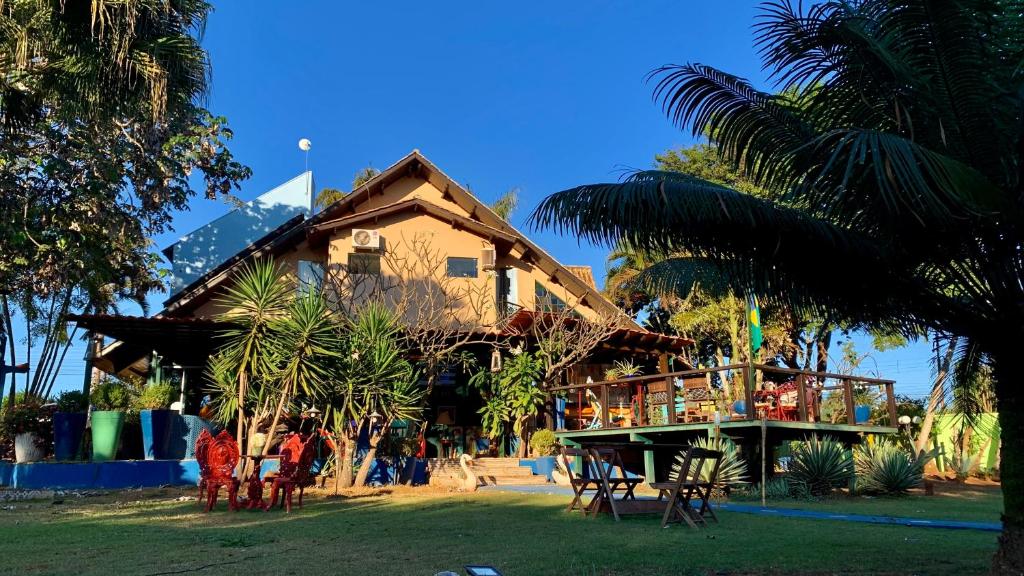
[[[29,345],[42,339],[30,396],[45,394],[73,340],[69,312],[121,299],[144,307],[161,287],[148,239],[187,207],[191,182],[212,198],[249,175],[225,148],[224,120],[200,106],[210,9],[198,0],[0,6],[0,334],[13,355],[20,312]]]

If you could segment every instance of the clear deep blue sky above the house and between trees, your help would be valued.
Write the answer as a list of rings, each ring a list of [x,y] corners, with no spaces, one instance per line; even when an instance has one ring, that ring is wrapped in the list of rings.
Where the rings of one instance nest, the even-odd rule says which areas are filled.
[[[519,188],[521,227],[547,194],[614,180],[693,142],[651,101],[651,69],[700,61],[767,87],[753,46],[755,2],[215,4],[205,36],[209,108],[228,118],[231,149],[253,169],[245,200],[299,173],[296,142],[307,137],[317,188],[348,190],[358,169],[419,149],[484,201]],[[227,209],[195,200],[157,246]],[[603,278],[603,248],[534,238]],[[155,312],[164,297],[152,298]],[[81,357],[69,355],[60,387],[81,385]],[[928,358],[927,344],[874,355],[882,374],[913,395],[927,392]]]

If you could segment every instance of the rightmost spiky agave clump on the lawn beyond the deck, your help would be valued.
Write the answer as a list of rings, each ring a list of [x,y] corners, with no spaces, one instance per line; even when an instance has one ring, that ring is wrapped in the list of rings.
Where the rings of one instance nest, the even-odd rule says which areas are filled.
[[[861,445],[854,452],[857,489],[866,494],[904,495],[921,485],[931,457],[930,453],[911,456],[888,442]]]

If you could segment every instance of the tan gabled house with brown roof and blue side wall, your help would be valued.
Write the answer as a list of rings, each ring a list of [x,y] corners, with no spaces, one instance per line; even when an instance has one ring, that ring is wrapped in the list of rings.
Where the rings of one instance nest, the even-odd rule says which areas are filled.
[[[422,318],[431,313],[423,306],[450,308],[429,321],[478,334],[470,347],[484,363],[493,354],[488,337],[528,340],[531,326],[552,315],[568,311],[572,318],[564,322],[591,323],[615,317],[620,324],[566,374],[560,382],[566,385],[600,380],[624,357],[667,370],[691,343],[647,332],[623,316],[597,289],[589,266],[558,262],[419,151],[315,214],[304,209],[311,181],[311,174],[300,175],[169,247],[172,293],[154,317],[77,317],[80,326],[114,339],[95,365],[115,374],[161,370],[180,377],[186,409],[195,410],[222,328],[214,320],[222,305],[217,296],[244,262],[265,256],[283,263],[298,289],[316,285],[339,306],[400,284],[388,293],[404,294],[394,302],[401,314]],[[444,375],[430,399],[434,416],[456,427],[478,423],[478,404],[456,392],[465,377]]]

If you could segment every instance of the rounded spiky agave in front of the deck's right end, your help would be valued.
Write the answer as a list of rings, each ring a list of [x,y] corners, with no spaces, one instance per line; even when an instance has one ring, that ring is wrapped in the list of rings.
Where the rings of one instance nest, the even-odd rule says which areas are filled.
[[[814,437],[800,443],[790,463],[791,492],[806,490],[810,496],[827,496],[852,476],[850,454],[828,437],[823,440]]]

